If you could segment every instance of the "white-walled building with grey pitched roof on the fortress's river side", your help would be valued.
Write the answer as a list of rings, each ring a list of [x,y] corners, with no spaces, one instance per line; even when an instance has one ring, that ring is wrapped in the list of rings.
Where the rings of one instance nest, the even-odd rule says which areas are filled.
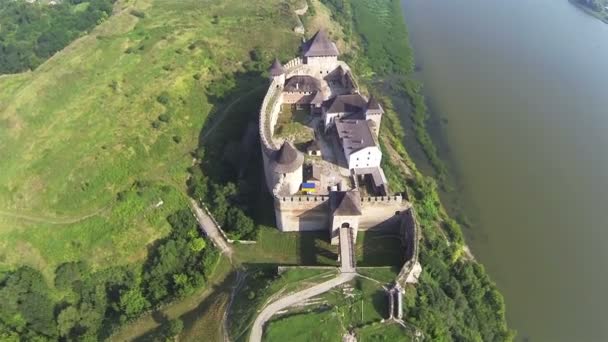
[[[373,123],[367,120],[340,120],[336,130],[348,168],[380,167],[382,151],[372,132]]]

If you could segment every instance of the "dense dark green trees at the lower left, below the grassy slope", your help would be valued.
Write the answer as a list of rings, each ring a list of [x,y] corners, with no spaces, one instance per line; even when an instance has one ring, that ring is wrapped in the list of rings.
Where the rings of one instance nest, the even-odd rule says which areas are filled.
[[[143,266],[97,270],[84,261],[67,262],[55,269],[52,285],[29,266],[0,273],[0,340],[102,340],[147,310],[205,286],[218,250],[201,237],[189,209],[167,221],[170,234],[154,243]],[[164,337],[179,327],[170,322]]]

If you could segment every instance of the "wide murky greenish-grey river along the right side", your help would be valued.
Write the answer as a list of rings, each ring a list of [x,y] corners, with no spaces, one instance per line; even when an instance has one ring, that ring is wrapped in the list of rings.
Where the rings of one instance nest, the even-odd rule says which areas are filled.
[[[403,8],[518,339],[608,341],[608,25],[568,0]]]

